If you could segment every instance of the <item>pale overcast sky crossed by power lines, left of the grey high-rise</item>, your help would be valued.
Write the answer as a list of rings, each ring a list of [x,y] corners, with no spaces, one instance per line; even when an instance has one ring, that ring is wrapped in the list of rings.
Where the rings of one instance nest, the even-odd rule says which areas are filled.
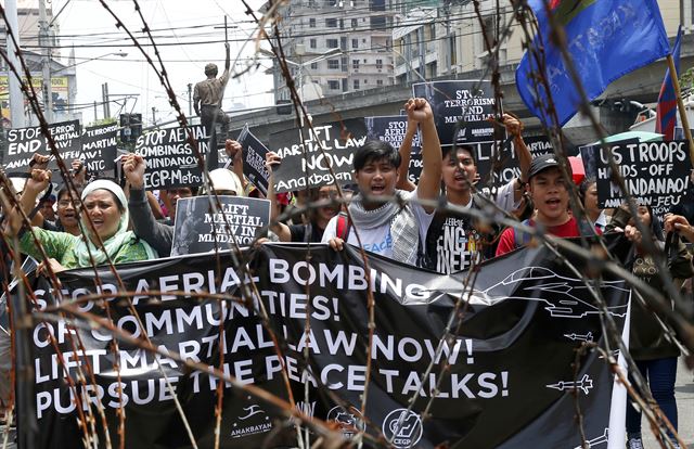
[[[259,8],[264,1],[250,0],[252,8]],[[134,11],[132,0],[110,0],[108,7],[114,10],[125,26],[139,38],[143,38],[142,21]],[[224,64],[224,15],[229,26],[232,64],[240,55],[237,68],[242,69],[246,61],[255,52],[255,43],[247,42],[255,26],[249,23],[250,16],[244,14],[240,0],[139,0],[142,15],[153,30],[160,56],[164,60],[169,80],[178,95],[179,104],[188,114],[188,88],[205,78],[204,66],[214,62],[220,67]],[[145,62],[141,50],[132,46],[126,34],[118,30],[115,20],[98,0],[54,0],[53,14],[65,9],[57,16],[60,23],[60,43],[64,63],[69,54],[69,47],[75,47],[77,70],[77,107],[89,105],[94,101],[101,103],[101,85],[108,84],[112,100],[121,99],[120,94],[132,94],[125,104],[127,111],[142,113],[145,125],[152,121],[152,107],[156,108],[157,123],[174,119],[174,111],[165,98],[154,70]],[[145,47],[154,57],[152,47]],[[127,56],[108,53],[127,53]],[[95,57],[98,60],[89,61]],[[87,61],[87,62],[83,62]],[[83,62],[80,64],[80,62]],[[266,67],[268,60],[260,61]],[[157,65],[158,66],[158,65]],[[272,78],[264,68],[253,69],[235,80],[230,80],[224,94],[224,110],[232,108],[234,103],[244,107],[258,107],[272,104]],[[111,115],[117,116],[120,105],[111,103]],[[82,123],[94,119],[93,105],[82,111]],[[103,107],[98,106],[98,118],[103,118]]]

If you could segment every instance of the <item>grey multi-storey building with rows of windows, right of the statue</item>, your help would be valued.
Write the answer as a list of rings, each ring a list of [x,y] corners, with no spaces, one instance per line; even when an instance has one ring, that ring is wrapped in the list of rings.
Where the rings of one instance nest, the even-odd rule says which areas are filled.
[[[393,85],[391,0],[298,0],[279,14],[284,54],[305,101]],[[290,100],[277,60],[272,74],[275,102]]]

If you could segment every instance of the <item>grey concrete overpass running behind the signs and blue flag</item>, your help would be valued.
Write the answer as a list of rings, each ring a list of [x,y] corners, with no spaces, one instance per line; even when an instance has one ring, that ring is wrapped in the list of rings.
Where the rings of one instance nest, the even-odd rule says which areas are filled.
[[[694,35],[684,35],[682,37],[680,64],[682,72],[694,65]],[[506,111],[515,112],[524,119],[527,132],[539,132],[539,120],[530,116],[515,89],[516,66],[517,64],[507,64],[501,68],[503,107]],[[627,99],[640,103],[653,103],[657,100],[665,70],[665,61],[659,61],[635,70],[613,82],[601,99]],[[484,70],[473,70],[432,80],[480,79],[483,76],[489,78],[489,74],[485,74]],[[368,116],[398,115],[400,108],[411,95],[412,89],[410,86],[398,85],[329,97],[306,102],[305,105],[317,123],[325,123]],[[633,120],[633,115],[627,113],[608,111],[604,107],[595,107],[595,111],[599,113],[600,120],[607,133],[625,131]],[[269,134],[294,128],[295,117],[293,113],[292,115],[278,115],[274,107],[249,114],[234,115],[231,116],[232,136],[236,136],[244,124],[248,124],[258,139],[267,142]],[[595,140],[586,120],[580,120],[578,117],[569,121],[564,127],[564,130],[574,143],[586,143]]]

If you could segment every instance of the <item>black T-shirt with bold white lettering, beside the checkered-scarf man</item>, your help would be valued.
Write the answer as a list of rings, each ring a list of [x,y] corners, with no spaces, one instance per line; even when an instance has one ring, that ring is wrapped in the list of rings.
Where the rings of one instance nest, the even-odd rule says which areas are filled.
[[[472,207],[478,208],[473,200]],[[498,228],[479,232],[472,217],[437,209],[426,233],[422,266],[440,273],[466,269],[473,260],[493,257]]]

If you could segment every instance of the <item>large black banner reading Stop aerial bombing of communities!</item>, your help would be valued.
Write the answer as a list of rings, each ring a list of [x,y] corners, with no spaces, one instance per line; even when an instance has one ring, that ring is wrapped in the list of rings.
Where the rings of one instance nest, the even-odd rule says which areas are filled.
[[[169,355],[209,367],[219,364],[221,323],[224,372],[287,399],[284,367],[296,407],[304,413],[333,421],[346,436],[355,428],[383,436],[395,448],[576,448],[581,442],[577,408],[591,447],[605,447],[599,444],[608,437],[624,445],[624,432],[611,428],[611,419],[613,424],[624,423],[626,399],[614,388],[607,363],[595,351],[577,359],[576,349],[583,342],[605,338],[600,310],[589,287],[548,249],[527,248],[483,265],[472,291],[464,285],[465,273],[441,275],[376,256],[369,257],[367,275],[361,256],[351,247],[335,253],[319,245],[307,254],[306,245],[261,245],[252,255],[249,270],[257,290],[253,300],[242,305],[198,293],[242,294],[240,286],[250,280],[232,268],[229,254],[120,266],[125,288],[137,292],[133,302],[141,324],[123,300],[108,299],[111,320],[136,337],[149,336]],[[102,285],[95,287],[92,269],[61,273],[64,297],[120,290],[106,268],[99,277]],[[34,286],[39,304],[55,303],[46,280]],[[150,298],[147,290],[160,296]],[[375,300],[371,344],[368,291]],[[621,328],[629,300],[625,282],[605,279],[601,293]],[[461,295],[468,305],[455,311]],[[253,309],[247,309],[250,304]],[[260,304],[280,341],[282,360],[256,312]],[[103,305],[86,302],[79,307],[105,316]],[[462,318],[454,320],[453,334],[442,339],[451,313]],[[78,400],[66,385],[49,331],[77,385],[78,367],[86,370],[89,362],[94,372],[98,386],[87,387]],[[86,347],[83,355],[72,343],[76,333]],[[30,335],[35,383],[29,386],[36,410],[35,415],[21,413],[20,425],[38,424],[33,447],[81,447],[75,408],[95,413],[98,400],[112,441],[118,438],[116,409],[123,403],[125,447],[191,447],[157,358],[197,447],[213,447],[217,380],[207,372],[191,371],[172,358],[155,358],[126,343],[115,352],[111,333],[81,318],[70,325],[40,323]],[[369,362],[364,416],[359,409]],[[94,420],[100,427],[101,421]],[[267,402],[224,389],[222,448],[294,446],[294,426],[281,423],[278,410]],[[103,446],[104,439],[100,441]]]

